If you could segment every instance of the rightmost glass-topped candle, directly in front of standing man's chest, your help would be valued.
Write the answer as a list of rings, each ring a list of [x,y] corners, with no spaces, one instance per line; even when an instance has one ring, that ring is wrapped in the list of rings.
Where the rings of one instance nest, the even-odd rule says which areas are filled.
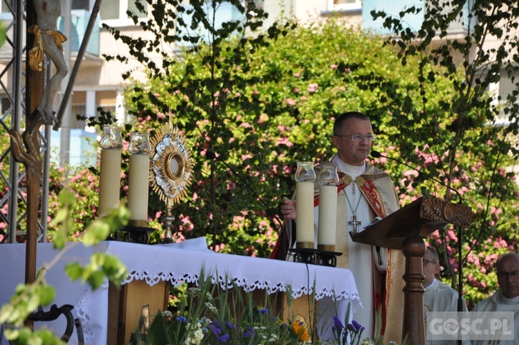
[[[337,167],[331,161],[321,164],[319,174],[319,224],[317,248],[335,251],[337,187],[339,181]]]

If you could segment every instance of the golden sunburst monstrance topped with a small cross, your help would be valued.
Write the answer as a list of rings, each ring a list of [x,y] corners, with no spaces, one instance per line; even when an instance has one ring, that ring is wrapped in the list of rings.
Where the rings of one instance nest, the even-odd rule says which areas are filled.
[[[183,197],[188,195],[186,188],[190,186],[193,175],[191,152],[185,146],[185,140],[179,128],[171,122],[171,108],[166,113],[170,119],[164,123],[156,134],[149,139],[152,145],[152,163],[149,165],[149,181],[166,205],[163,224],[166,227],[165,240],[170,242],[174,216],[172,208]]]

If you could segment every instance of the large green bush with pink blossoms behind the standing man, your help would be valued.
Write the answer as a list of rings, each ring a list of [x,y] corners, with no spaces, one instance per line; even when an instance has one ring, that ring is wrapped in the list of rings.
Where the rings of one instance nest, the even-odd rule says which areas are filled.
[[[231,2],[241,6],[239,1]],[[465,298],[473,304],[495,290],[495,258],[515,250],[518,242],[518,188],[511,154],[515,135],[512,127],[491,125],[488,103],[475,106],[457,96],[462,71],[424,65],[415,55],[406,55],[402,64],[399,50],[386,45],[382,37],[350,28],[340,19],[304,25],[280,20],[262,31],[258,29],[264,12],[242,8],[246,24],[231,22],[217,29],[205,12],[197,12],[203,4],[192,4],[192,13],[181,7],[176,12],[164,10],[163,1],[154,4],[152,19],[140,24],[154,33],[156,39],[149,42],[108,28],[148,73],[142,84],[132,80],[131,71],[127,74],[131,80],[127,109],[135,114],[135,121],[125,126],[125,140],[135,130],[153,135],[172,109],[172,122],[192,152],[192,186],[173,210],[175,240],[206,236],[217,251],[268,256],[277,240],[280,204],[293,192],[296,162],[330,159],[334,118],[357,110],[372,118],[377,134],[374,150],[417,166],[459,191],[464,204],[475,212],[462,246]],[[172,35],[174,23],[183,23],[182,15],[186,16],[183,34]],[[205,43],[197,35],[197,26],[192,26],[197,20],[206,24]],[[240,25],[244,25],[241,30]],[[186,40],[192,44],[181,50],[175,46]],[[162,65],[149,58],[152,53],[163,55]],[[129,57],[107,58],[120,63]],[[459,104],[468,105],[462,121],[452,107]],[[219,159],[209,160],[208,151]],[[123,202],[127,158],[125,153]],[[393,177],[402,205],[420,195],[448,193],[406,166],[385,159],[372,163]],[[49,218],[55,214],[55,193],[63,183],[63,172],[54,170]],[[98,167],[78,172],[69,185],[78,197],[79,234],[97,211]],[[164,212],[158,197],[151,194],[149,226],[158,229],[153,242],[163,239]],[[429,242],[440,251],[446,267],[444,281],[455,281],[457,229],[441,229]]]

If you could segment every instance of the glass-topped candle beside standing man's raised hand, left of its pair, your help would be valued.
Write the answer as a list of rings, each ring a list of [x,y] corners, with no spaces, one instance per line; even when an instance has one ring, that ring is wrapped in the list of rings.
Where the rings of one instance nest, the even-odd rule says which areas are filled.
[[[311,161],[298,162],[295,171],[295,242],[299,249],[313,249],[313,181]]]

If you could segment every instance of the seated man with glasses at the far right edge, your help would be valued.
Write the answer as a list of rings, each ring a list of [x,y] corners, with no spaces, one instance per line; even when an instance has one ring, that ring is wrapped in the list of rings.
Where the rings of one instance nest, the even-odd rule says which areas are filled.
[[[477,303],[475,312],[513,312],[513,340],[475,340],[473,345],[519,344],[519,254],[504,254],[495,265],[498,276],[498,290],[489,298]]]

